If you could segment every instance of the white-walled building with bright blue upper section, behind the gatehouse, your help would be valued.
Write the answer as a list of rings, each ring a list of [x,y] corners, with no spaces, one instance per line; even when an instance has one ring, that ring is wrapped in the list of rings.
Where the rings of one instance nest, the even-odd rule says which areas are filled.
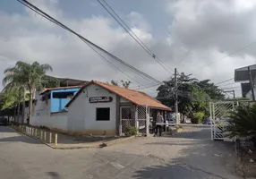
[[[64,107],[80,87],[58,87],[44,90],[41,93],[37,92],[30,124],[67,131],[68,115]]]

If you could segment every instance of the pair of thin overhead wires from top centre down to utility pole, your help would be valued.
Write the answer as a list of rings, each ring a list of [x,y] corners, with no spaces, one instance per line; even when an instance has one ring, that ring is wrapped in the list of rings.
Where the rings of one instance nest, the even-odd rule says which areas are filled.
[[[170,72],[167,68],[166,68],[166,64],[161,61],[157,55],[155,55],[150,49],[149,47],[147,47],[145,45],[145,43],[141,40],[141,38],[139,38],[132,30],[131,28],[124,22],[124,20],[122,20],[122,18],[117,14],[115,13],[115,10],[109,5],[107,4],[107,2],[105,0],[102,0],[106,5],[107,7],[110,9],[110,11],[112,11],[112,13],[107,9],[107,7],[102,4],[100,2],[100,0],[98,0],[98,3],[101,4],[101,6],[107,11],[107,13],[109,13],[114,19],[115,21],[117,21],[117,23],[119,23],[119,25],[151,56],[153,57],[157,62],[158,64],[160,64],[165,70],[166,72]],[[114,13],[114,14],[113,14]],[[121,22],[120,22],[121,21]]]

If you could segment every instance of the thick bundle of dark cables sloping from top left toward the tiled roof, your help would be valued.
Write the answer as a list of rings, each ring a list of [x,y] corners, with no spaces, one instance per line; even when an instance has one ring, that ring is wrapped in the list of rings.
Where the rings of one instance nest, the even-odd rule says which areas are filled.
[[[26,0],[17,0],[18,2],[20,2],[21,4],[27,6],[28,8],[30,8],[30,10],[34,11],[35,13],[38,13],[39,15],[41,15],[42,17],[46,18],[48,21],[52,21],[53,23],[55,23],[56,25],[62,27],[64,30],[68,30],[70,32],[72,32],[74,35],[76,35],[78,38],[81,38],[81,40],[83,42],[85,42],[88,46],[90,44],[90,46],[92,47],[96,47],[98,48],[98,50],[100,50],[101,52],[105,53],[106,55],[110,56],[113,60],[115,60],[115,62],[119,63],[119,64],[124,64],[124,66],[129,67],[130,70],[132,70],[133,72],[136,72],[138,75],[140,75],[142,78],[144,78],[147,81],[154,81],[154,82],[160,82],[156,79],[154,79],[153,77],[149,76],[148,74],[146,74],[145,72],[141,72],[140,70],[136,69],[135,67],[133,67],[131,64],[127,64],[125,63],[123,60],[121,60],[120,58],[116,57],[115,55],[110,54],[109,52],[107,52],[107,50],[98,47],[98,45],[94,44],[93,42],[91,42],[90,40],[88,40],[87,38],[82,37],[80,34],[78,34],[77,32],[75,32],[74,30],[71,30],[70,28],[68,28],[67,26],[65,26],[63,23],[61,23],[60,21],[55,20],[53,17],[51,17],[50,15],[48,15],[47,13],[44,13],[43,11],[41,11],[38,7],[36,7],[33,4],[30,4],[28,1]],[[99,52],[98,52],[99,53]],[[101,56],[102,57],[102,56]]]

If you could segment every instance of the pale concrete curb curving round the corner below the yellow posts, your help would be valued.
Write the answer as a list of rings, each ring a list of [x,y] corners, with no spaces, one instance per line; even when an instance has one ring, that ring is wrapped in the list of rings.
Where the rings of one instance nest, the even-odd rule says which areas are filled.
[[[47,143],[46,141],[42,141],[42,140],[38,139],[38,137],[31,136],[31,135],[27,134],[26,132],[21,132],[20,130],[18,130],[17,128],[15,128],[13,126],[8,126],[8,127],[10,129],[14,130],[15,132],[18,132],[22,135],[30,137],[31,139],[36,140],[38,142],[41,142],[41,143],[47,145],[48,147],[50,147],[52,149],[98,149],[98,148],[104,148],[104,147],[107,147],[107,146],[115,145],[116,143],[129,141],[129,140],[132,140],[136,137],[136,136],[130,136],[130,137],[120,138],[120,139],[110,140],[110,141],[96,141],[96,142],[92,142],[92,143],[88,144],[87,146],[84,146],[86,144],[81,144],[81,145],[77,144],[77,146],[72,146],[72,147],[61,147],[61,146],[52,145],[50,143]]]

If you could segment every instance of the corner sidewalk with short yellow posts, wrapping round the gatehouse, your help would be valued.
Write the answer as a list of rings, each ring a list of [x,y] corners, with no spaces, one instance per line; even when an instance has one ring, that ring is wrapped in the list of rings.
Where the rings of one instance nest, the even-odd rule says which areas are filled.
[[[51,132],[34,127],[11,126],[15,131],[21,132],[33,139],[36,139],[53,149],[84,149],[84,148],[101,148],[113,145],[115,143],[131,140],[131,137],[113,137],[100,141],[77,141],[75,137],[58,132]]]

